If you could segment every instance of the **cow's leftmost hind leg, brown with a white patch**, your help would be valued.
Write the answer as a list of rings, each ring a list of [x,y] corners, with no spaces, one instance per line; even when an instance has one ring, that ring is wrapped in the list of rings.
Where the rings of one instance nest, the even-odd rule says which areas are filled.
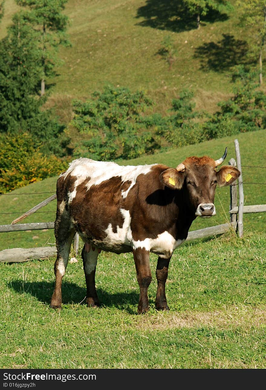
[[[62,305],[62,279],[65,275],[70,247],[75,236],[75,230],[70,224],[69,220],[67,220],[67,218],[64,218],[63,216],[63,218],[57,218],[54,225],[54,233],[56,236],[57,247],[57,258],[54,263],[54,275],[56,277],[56,280],[50,307],[54,309],[60,309]]]

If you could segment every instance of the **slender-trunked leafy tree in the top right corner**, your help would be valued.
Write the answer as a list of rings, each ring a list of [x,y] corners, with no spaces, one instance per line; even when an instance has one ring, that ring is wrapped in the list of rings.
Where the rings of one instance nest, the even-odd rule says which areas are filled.
[[[245,0],[238,1],[237,5],[242,10],[240,21],[242,25],[256,28],[259,43],[255,45],[255,52],[259,59],[259,83],[263,83],[263,50],[266,49],[266,1]]]

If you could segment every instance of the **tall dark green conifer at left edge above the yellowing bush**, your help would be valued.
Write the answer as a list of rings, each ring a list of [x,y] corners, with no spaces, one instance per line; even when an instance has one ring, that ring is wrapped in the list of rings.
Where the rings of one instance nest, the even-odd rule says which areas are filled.
[[[7,36],[0,41],[0,132],[25,129],[43,101],[36,89],[41,69],[35,34],[15,14]]]

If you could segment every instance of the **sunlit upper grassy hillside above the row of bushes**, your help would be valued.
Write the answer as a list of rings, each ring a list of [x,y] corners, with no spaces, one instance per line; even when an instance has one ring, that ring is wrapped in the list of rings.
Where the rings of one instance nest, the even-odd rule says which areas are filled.
[[[6,0],[5,9],[1,36],[17,7]],[[69,0],[64,12],[72,47],[60,49],[64,63],[50,80],[47,105],[55,106],[65,123],[72,98],[89,97],[105,83],[145,90],[162,113],[187,87],[194,90],[196,108],[212,112],[231,94],[231,70],[249,62],[249,42],[256,38],[239,26],[239,9],[202,18],[200,29],[179,1]],[[168,35],[176,50],[171,69],[160,54]]]

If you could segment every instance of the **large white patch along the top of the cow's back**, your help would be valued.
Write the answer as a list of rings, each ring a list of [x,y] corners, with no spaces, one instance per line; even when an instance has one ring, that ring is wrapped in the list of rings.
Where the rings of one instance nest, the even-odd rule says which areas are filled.
[[[75,176],[74,190],[69,193],[69,202],[75,198],[77,194],[77,186],[83,183],[89,178],[86,188],[89,190],[91,186],[98,185],[105,180],[111,179],[111,177],[121,177],[122,183],[131,181],[129,188],[126,191],[122,191],[122,197],[126,198],[129,190],[136,183],[137,177],[140,174],[147,174],[151,171],[151,168],[157,164],[152,165],[118,165],[111,161],[94,161],[89,158],[79,158],[72,161],[68,170],[61,176],[66,177],[69,173],[71,176]]]

